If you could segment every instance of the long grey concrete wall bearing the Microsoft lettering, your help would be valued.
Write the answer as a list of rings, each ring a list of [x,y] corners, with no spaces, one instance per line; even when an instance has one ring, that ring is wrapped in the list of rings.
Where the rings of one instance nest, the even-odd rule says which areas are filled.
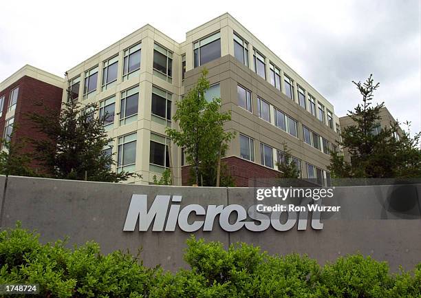
[[[0,176],[3,190],[5,179]],[[13,227],[20,220],[23,227],[36,229],[43,242],[65,235],[69,245],[94,240],[103,253],[142,247],[146,266],[162,264],[175,270],[186,266],[182,260],[185,241],[191,235],[180,228],[175,232],[123,232],[132,194],[147,194],[148,206],[155,195],[182,195],[187,204],[256,204],[255,190],[248,188],[155,187],[134,184],[76,182],[42,178],[9,177],[2,200],[1,228]],[[307,253],[321,264],[341,255],[360,251],[375,259],[413,268],[421,262],[421,184],[378,187],[336,187],[334,198],[323,204],[342,206],[341,213],[322,213],[323,230],[314,230],[307,222],[305,231],[296,224],[285,232],[273,228],[250,232],[242,228],[227,233],[215,220],[212,232],[198,231],[196,237],[217,240],[226,246],[233,242],[259,245],[269,253]],[[192,216],[193,217],[193,216]],[[193,220],[193,218],[190,218]]]

